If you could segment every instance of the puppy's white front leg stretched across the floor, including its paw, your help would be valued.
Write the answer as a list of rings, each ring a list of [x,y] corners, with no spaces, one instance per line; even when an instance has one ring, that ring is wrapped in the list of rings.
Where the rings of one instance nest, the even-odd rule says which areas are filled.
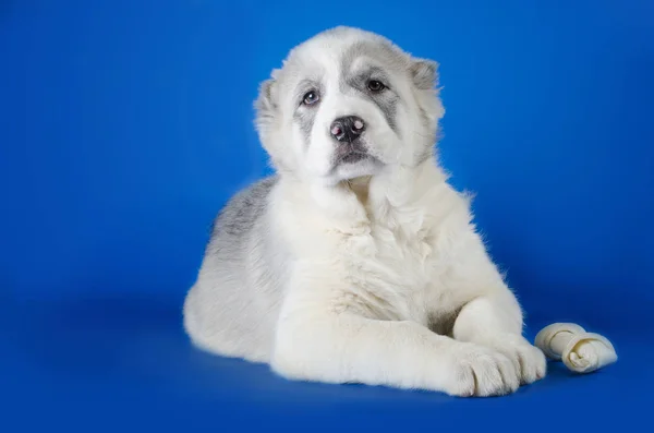
[[[271,366],[288,378],[422,388],[457,396],[516,390],[511,361],[481,345],[456,341],[410,321],[339,312],[339,297],[304,300],[290,293],[277,328]],[[311,293],[311,294],[310,294]],[[307,299],[311,297],[311,300]]]

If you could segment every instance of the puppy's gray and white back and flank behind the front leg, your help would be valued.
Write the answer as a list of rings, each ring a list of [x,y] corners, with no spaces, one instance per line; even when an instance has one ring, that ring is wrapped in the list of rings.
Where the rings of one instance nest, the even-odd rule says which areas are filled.
[[[276,177],[239,192],[211,230],[184,326],[199,347],[251,361],[269,359],[281,300],[283,252],[271,251],[268,200]]]

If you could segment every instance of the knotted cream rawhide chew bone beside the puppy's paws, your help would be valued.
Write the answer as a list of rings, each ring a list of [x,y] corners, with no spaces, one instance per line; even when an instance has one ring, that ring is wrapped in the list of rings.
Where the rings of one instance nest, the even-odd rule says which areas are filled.
[[[590,373],[618,360],[604,336],[574,323],[553,323],[536,335],[535,346],[549,359],[564,361],[576,373]]]

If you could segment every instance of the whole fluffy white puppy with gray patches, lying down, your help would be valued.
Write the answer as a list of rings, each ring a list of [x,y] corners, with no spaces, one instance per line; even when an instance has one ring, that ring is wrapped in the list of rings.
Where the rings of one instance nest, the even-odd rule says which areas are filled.
[[[277,169],[216,220],[184,325],[288,378],[508,394],[545,375],[522,312],[434,156],[436,63],[338,27],[263,83]]]

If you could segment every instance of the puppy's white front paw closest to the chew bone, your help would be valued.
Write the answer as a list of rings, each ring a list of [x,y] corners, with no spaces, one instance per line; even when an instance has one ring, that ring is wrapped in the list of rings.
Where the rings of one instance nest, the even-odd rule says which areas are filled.
[[[516,370],[519,372],[520,383],[522,385],[536,382],[545,377],[545,374],[547,373],[545,354],[541,349],[532,346],[520,335],[509,334],[495,336],[479,342],[488,346],[509,358]]]

